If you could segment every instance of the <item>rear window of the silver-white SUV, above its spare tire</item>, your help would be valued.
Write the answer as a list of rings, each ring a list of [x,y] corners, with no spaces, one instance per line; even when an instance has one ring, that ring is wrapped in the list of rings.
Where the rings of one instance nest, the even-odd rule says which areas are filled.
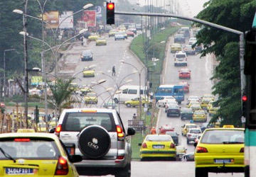
[[[109,132],[115,132],[112,113],[66,113],[63,131],[80,132],[87,126],[99,125]]]

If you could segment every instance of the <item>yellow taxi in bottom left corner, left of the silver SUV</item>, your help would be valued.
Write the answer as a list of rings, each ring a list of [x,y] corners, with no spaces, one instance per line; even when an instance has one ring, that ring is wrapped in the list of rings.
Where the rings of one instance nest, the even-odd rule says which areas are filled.
[[[0,176],[79,176],[56,135],[38,132],[0,134]]]

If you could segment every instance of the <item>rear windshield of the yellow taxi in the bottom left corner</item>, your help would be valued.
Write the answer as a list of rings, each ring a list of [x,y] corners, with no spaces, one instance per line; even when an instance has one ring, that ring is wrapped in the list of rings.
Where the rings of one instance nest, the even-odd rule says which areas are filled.
[[[60,152],[53,139],[24,138],[1,139],[0,147],[14,159],[58,159]],[[18,140],[20,139],[20,140]],[[0,159],[7,159],[0,152]]]

